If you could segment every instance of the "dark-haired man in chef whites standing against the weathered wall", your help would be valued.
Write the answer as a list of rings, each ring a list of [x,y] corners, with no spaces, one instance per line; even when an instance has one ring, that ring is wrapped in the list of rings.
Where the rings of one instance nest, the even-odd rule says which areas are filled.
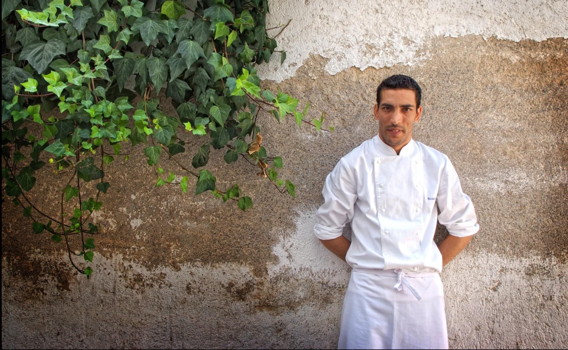
[[[420,99],[409,76],[383,80],[374,106],[378,135],[342,157],[325,178],[314,232],[353,268],[340,349],[448,348],[439,273],[479,225],[448,157],[412,139]],[[439,246],[436,219],[449,232]],[[342,236],[348,221],[351,242]]]

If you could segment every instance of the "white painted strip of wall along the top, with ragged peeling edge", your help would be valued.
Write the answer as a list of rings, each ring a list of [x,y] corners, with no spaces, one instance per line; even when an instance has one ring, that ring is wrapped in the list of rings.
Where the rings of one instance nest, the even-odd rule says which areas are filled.
[[[277,38],[277,49],[287,53],[282,67],[278,54],[259,67],[263,79],[277,82],[294,76],[310,54],[327,58],[325,69],[335,75],[353,66],[364,70],[431,58],[436,53],[419,51],[435,36],[568,38],[567,0],[278,0],[269,6],[267,28],[292,19]]]

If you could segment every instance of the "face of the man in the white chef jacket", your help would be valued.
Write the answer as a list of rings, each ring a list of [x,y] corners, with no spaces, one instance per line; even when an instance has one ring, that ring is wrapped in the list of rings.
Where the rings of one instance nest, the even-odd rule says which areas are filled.
[[[416,107],[413,90],[383,89],[381,105],[375,104],[374,114],[379,121],[379,137],[398,154],[410,142],[412,125],[419,121],[422,107]]]

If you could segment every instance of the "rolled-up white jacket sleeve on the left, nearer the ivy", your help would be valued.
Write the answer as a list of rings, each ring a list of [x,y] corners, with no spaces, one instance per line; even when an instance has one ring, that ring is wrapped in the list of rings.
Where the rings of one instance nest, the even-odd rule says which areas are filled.
[[[357,200],[357,184],[343,158],[325,178],[321,194],[325,202],[316,212],[314,233],[320,240],[332,240],[341,236],[346,223],[353,219]]]

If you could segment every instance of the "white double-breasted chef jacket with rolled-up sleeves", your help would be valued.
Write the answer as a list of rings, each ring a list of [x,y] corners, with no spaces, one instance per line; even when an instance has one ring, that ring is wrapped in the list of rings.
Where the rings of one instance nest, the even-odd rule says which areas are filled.
[[[457,237],[479,230],[448,157],[414,139],[399,155],[378,135],[366,140],[339,160],[321,194],[315,236],[337,238],[351,221],[345,260],[354,270],[441,272],[436,220]]]

